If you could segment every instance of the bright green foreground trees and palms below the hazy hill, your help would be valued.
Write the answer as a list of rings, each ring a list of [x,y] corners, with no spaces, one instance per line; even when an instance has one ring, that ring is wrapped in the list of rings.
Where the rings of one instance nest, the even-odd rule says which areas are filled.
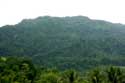
[[[110,66],[86,72],[60,71],[34,65],[27,58],[0,57],[0,83],[125,83],[125,69]]]

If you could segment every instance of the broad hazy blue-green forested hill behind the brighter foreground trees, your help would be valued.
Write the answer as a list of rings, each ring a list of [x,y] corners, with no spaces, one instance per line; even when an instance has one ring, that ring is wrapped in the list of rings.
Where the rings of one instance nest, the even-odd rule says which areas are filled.
[[[60,69],[125,66],[125,25],[83,16],[25,19],[0,28],[0,55]]]

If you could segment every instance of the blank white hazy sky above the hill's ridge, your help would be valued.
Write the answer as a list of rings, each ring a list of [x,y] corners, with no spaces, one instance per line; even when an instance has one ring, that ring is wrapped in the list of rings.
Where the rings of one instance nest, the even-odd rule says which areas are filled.
[[[125,0],[0,0],[0,26],[44,15],[83,15],[125,24]]]

